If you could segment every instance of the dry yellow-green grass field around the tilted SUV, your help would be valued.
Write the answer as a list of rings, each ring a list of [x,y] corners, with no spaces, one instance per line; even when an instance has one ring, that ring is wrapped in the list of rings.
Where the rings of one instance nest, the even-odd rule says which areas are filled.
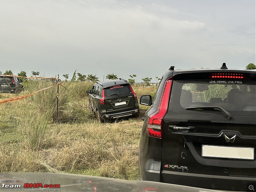
[[[138,180],[140,117],[99,123],[89,109],[91,82],[62,82],[59,124],[57,87],[1,104],[0,172],[65,172]],[[0,93],[0,100],[36,92],[52,82],[28,81],[19,94]],[[155,90],[134,88],[138,99]]]

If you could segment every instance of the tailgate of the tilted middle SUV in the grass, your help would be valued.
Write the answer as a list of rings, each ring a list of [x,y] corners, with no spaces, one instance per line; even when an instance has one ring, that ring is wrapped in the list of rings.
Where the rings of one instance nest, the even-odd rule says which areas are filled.
[[[103,89],[107,114],[135,109],[135,93],[129,84],[115,85]]]

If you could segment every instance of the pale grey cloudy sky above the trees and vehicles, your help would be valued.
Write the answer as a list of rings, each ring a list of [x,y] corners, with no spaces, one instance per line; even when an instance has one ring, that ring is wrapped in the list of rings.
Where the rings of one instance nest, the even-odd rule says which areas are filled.
[[[128,79],[255,62],[255,0],[0,0],[0,71]]]

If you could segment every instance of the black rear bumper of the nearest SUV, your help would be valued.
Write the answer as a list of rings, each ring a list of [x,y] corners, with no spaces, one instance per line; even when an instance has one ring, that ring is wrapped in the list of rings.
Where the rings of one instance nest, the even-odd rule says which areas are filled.
[[[144,180],[157,181],[157,174],[160,182],[185,185],[197,188],[246,191],[250,184],[256,183],[256,178],[216,176],[184,172],[152,171],[146,170]],[[247,190],[248,191],[248,190]]]

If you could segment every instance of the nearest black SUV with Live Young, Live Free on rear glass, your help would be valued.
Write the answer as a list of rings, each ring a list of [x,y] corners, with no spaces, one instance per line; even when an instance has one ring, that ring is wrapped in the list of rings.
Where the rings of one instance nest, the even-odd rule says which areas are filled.
[[[256,70],[174,70],[162,77],[140,136],[140,180],[246,191],[256,183]],[[255,189],[256,190],[256,189]]]

